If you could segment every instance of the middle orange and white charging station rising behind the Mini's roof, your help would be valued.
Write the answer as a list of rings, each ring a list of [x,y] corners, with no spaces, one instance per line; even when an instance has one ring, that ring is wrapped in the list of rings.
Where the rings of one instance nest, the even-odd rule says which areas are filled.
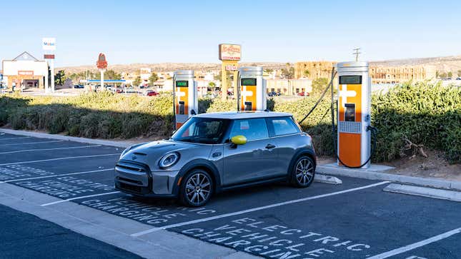
[[[237,111],[266,110],[266,80],[262,78],[262,67],[239,68]]]

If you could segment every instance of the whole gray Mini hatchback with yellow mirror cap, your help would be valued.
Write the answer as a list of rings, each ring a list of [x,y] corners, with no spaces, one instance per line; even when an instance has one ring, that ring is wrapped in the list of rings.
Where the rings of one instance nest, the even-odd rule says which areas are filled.
[[[127,148],[115,188],[201,206],[213,193],[273,181],[303,188],[314,180],[312,139],[289,113],[204,113],[172,138]]]

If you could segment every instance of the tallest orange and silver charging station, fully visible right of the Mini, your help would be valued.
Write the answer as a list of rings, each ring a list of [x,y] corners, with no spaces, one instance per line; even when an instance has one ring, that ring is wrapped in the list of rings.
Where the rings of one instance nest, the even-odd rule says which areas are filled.
[[[368,168],[371,142],[371,81],[368,62],[337,64],[338,166]]]

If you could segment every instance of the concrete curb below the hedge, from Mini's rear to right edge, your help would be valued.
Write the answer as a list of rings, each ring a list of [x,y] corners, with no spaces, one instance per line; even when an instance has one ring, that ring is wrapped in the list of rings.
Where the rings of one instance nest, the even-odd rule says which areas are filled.
[[[317,172],[332,176],[348,176],[369,180],[392,181],[397,183],[409,183],[416,186],[427,186],[432,188],[461,191],[461,181],[445,181],[434,178],[401,176],[392,173],[370,171],[367,169],[339,168],[326,165],[317,166]]]

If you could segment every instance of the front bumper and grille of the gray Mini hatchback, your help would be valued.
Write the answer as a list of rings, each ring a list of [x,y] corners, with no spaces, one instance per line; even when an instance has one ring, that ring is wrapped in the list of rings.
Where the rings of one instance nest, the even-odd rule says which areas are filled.
[[[176,197],[178,171],[151,171],[144,163],[121,160],[115,166],[115,188],[142,197]]]

